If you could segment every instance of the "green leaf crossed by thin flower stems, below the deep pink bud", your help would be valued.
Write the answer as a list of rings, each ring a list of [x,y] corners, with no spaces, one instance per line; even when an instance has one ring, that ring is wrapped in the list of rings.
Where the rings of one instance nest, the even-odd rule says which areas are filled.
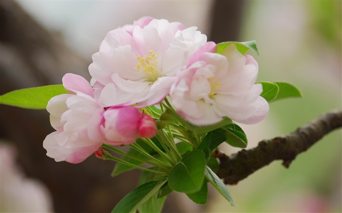
[[[135,141],[135,143],[137,143],[139,146],[141,146],[149,154],[153,151],[153,149],[149,145],[147,145],[144,141],[142,141],[141,139],[137,139]],[[135,149],[133,149],[131,147],[129,147],[129,150],[128,150],[127,153],[129,155],[136,156],[138,158],[148,159],[145,155],[141,154],[140,152],[136,151]],[[137,165],[137,166],[142,164],[141,161],[132,159],[132,158],[127,157],[127,156],[123,156],[121,159],[127,161],[128,163],[132,163],[134,165]],[[118,163],[115,164],[113,172],[111,173],[111,176],[115,177],[115,176],[117,176],[119,174],[128,172],[128,171],[130,171],[132,169],[134,169],[134,168],[131,167],[131,166],[128,166],[126,164],[122,164],[122,163],[118,162]]]

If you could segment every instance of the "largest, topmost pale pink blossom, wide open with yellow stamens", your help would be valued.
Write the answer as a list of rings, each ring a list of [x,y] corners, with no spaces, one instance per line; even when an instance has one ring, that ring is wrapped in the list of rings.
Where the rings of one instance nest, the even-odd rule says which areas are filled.
[[[144,17],[110,31],[89,65],[99,104],[145,107],[161,102],[192,52],[206,42],[196,29]]]

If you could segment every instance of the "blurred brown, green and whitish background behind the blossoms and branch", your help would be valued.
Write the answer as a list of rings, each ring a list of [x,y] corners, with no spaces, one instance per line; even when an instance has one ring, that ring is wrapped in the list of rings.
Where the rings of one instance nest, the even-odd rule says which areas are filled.
[[[256,40],[259,81],[286,81],[302,98],[270,104],[256,125],[243,125],[248,148],[285,135],[342,106],[341,1],[0,1],[0,95],[61,84],[65,73],[90,79],[87,67],[107,32],[142,16],[197,26],[208,40]],[[112,162],[90,156],[72,165],[47,157],[53,131],[46,111],[0,105],[0,212],[110,212],[138,181],[138,171],[110,177]],[[235,186],[231,207],[215,190],[199,206],[182,194],[164,212],[342,211],[342,134],[335,131],[289,169],[275,161]],[[227,155],[238,149],[221,146]]]

